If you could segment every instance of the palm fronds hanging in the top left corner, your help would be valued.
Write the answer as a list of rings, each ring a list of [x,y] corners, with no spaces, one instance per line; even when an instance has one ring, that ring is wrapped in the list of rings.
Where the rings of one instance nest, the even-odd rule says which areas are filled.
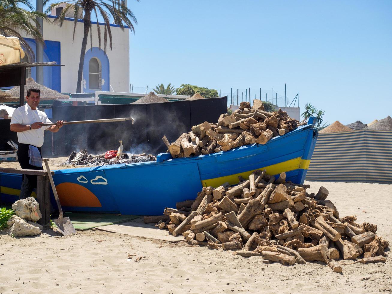
[[[20,7],[26,5],[32,11]],[[44,44],[44,37],[40,33],[38,18],[47,19],[44,13],[33,11],[28,0],[0,0],[0,34],[19,38],[22,48],[25,49],[31,60],[34,60],[34,51],[20,35],[21,32]],[[37,27],[38,25],[38,27]]]

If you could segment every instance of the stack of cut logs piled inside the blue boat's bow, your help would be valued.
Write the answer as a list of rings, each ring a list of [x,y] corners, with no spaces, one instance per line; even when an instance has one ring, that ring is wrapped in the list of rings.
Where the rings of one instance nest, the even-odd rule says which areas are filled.
[[[218,123],[203,122],[195,125],[191,132],[181,134],[171,144],[165,136],[162,140],[173,158],[198,156],[247,144],[265,144],[272,137],[296,129],[298,124],[285,111],[264,111],[263,103],[254,100],[252,108],[249,102],[241,102],[240,109],[232,115],[221,114]]]

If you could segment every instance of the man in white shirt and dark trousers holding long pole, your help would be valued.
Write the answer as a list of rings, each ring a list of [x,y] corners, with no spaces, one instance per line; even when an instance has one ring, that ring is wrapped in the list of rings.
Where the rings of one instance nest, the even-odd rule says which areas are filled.
[[[44,170],[41,166],[34,166],[31,163],[29,150],[39,151],[41,157],[41,146],[44,144],[44,132],[58,132],[63,126],[62,120],[58,120],[56,125],[42,126],[44,123],[51,123],[43,111],[37,109],[40,103],[39,89],[27,90],[24,106],[15,109],[11,118],[11,131],[18,133],[18,162],[22,169]],[[29,146],[30,145],[30,146]],[[38,152],[37,152],[38,153]],[[34,154],[37,155],[37,154]],[[37,186],[37,177],[32,175],[23,175],[22,187],[20,188],[19,199],[30,197],[31,192]]]

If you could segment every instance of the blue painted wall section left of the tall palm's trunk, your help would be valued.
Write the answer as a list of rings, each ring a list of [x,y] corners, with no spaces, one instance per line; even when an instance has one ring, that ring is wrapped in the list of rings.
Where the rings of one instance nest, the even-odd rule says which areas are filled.
[[[36,43],[34,39],[25,38],[26,42],[36,54]],[[61,64],[60,42],[45,40],[44,62],[55,61]],[[36,68],[31,67],[31,77],[36,80]],[[44,67],[44,86],[61,93],[61,66]]]

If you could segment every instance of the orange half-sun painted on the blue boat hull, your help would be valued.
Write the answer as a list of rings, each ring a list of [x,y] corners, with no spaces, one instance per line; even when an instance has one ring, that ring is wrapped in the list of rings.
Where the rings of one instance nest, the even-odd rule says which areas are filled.
[[[61,183],[56,186],[62,206],[102,207],[98,198],[87,188],[75,183]]]

